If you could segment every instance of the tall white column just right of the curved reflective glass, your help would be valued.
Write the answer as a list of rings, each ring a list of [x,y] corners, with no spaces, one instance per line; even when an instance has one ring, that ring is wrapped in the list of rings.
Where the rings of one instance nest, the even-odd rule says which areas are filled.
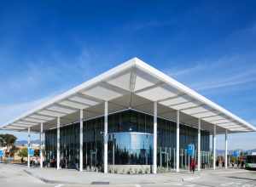
[[[157,102],[154,102],[153,173],[157,173]]]

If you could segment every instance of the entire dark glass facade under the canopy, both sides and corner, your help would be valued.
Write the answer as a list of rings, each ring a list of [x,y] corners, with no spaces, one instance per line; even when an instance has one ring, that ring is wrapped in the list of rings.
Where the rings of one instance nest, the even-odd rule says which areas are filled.
[[[108,116],[108,164],[152,165],[153,116],[127,110]],[[103,168],[104,117],[84,122],[84,169]],[[158,118],[158,167],[175,167],[176,122]],[[180,124],[181,167],[188,144],[197,148],[198,130]],[[61,167],[79,167],[79,122],[61,127]],[[45,132],[45,161],[55,167],[56,129]],[[209,151],[209,132],[201,131],[201,151]]]

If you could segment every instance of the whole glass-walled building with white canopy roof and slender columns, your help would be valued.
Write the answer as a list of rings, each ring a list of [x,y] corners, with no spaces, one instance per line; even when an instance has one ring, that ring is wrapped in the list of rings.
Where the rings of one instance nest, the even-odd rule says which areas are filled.
[[[27,131],[28,146],[30,133],[41,133],[41,167],[103,173],[178,172],[188,169],[191,159],[198,170],[215,169],[217,134],[225,136],[227,168],[228,133],[256,130],[137,58],[38,105],[2,129]],[[188,145],[195,146],[192,155]]]

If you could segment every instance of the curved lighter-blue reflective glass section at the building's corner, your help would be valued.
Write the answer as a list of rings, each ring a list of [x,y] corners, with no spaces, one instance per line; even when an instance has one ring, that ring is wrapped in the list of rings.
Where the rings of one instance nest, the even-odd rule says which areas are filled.
[[[152,133],[109,133],[108,163],[120,165],[152,164]]]

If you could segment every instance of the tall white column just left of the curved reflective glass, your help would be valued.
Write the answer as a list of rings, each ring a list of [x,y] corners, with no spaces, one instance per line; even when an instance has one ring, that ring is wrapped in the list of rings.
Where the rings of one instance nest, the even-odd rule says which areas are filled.
[[[104,173],[108,173],[108,101],[104,111]]]

